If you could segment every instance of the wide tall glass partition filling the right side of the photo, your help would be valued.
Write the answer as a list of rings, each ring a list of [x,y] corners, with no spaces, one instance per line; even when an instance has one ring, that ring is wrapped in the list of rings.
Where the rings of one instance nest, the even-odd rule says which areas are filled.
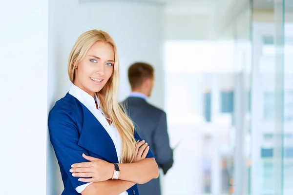
[[[293,1],[253,5],[250,194],[292,195]]]

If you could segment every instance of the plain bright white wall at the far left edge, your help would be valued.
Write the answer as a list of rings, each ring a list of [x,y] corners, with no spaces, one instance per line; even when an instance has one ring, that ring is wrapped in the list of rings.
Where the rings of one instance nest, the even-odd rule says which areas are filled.
[[[0,3],[0,189],[45,195],[48,0]]]

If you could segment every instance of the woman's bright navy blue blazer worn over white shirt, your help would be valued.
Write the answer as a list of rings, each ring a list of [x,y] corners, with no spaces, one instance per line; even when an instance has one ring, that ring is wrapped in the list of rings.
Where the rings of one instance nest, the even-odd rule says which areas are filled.
[[[77,98],[69,93],[56,102],[49,113],[50,140],[60,167],[64,191],[62,195],[80,195],[75,188],[85,184],[69,172],[71,165],[86,162],[82,154],[118,163],[116,149],[102,124]],[[134,132],[135,140],[142,140]],[[149,150],[146,157],[154,157]],[[138,195],[137,186],[127,190],[128,195]]]

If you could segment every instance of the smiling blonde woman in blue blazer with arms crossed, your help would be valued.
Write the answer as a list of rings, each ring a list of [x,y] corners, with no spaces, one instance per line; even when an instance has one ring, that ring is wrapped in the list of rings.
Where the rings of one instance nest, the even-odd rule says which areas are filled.
[[[138,195],[136,183],[159,175],[147,143],[117,100],[118,54],[98,30],[82,34],[69,56],[73,83],[48,118],[62,174],[62,195]]]

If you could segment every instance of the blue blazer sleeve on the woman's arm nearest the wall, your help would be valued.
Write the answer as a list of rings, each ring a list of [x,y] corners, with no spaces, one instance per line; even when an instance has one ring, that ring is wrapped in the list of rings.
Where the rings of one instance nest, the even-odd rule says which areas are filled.
[[[79,177],[73,177],[69,170],[74,163],[86,162],[82,154],[88,153],[78,145],[79,132],[75,117],[71,111],[55,107],[49,114],[48,127],[60,169],[64,170],[72,186],[78,191],[77,187],[86,183],[78,181]]]

